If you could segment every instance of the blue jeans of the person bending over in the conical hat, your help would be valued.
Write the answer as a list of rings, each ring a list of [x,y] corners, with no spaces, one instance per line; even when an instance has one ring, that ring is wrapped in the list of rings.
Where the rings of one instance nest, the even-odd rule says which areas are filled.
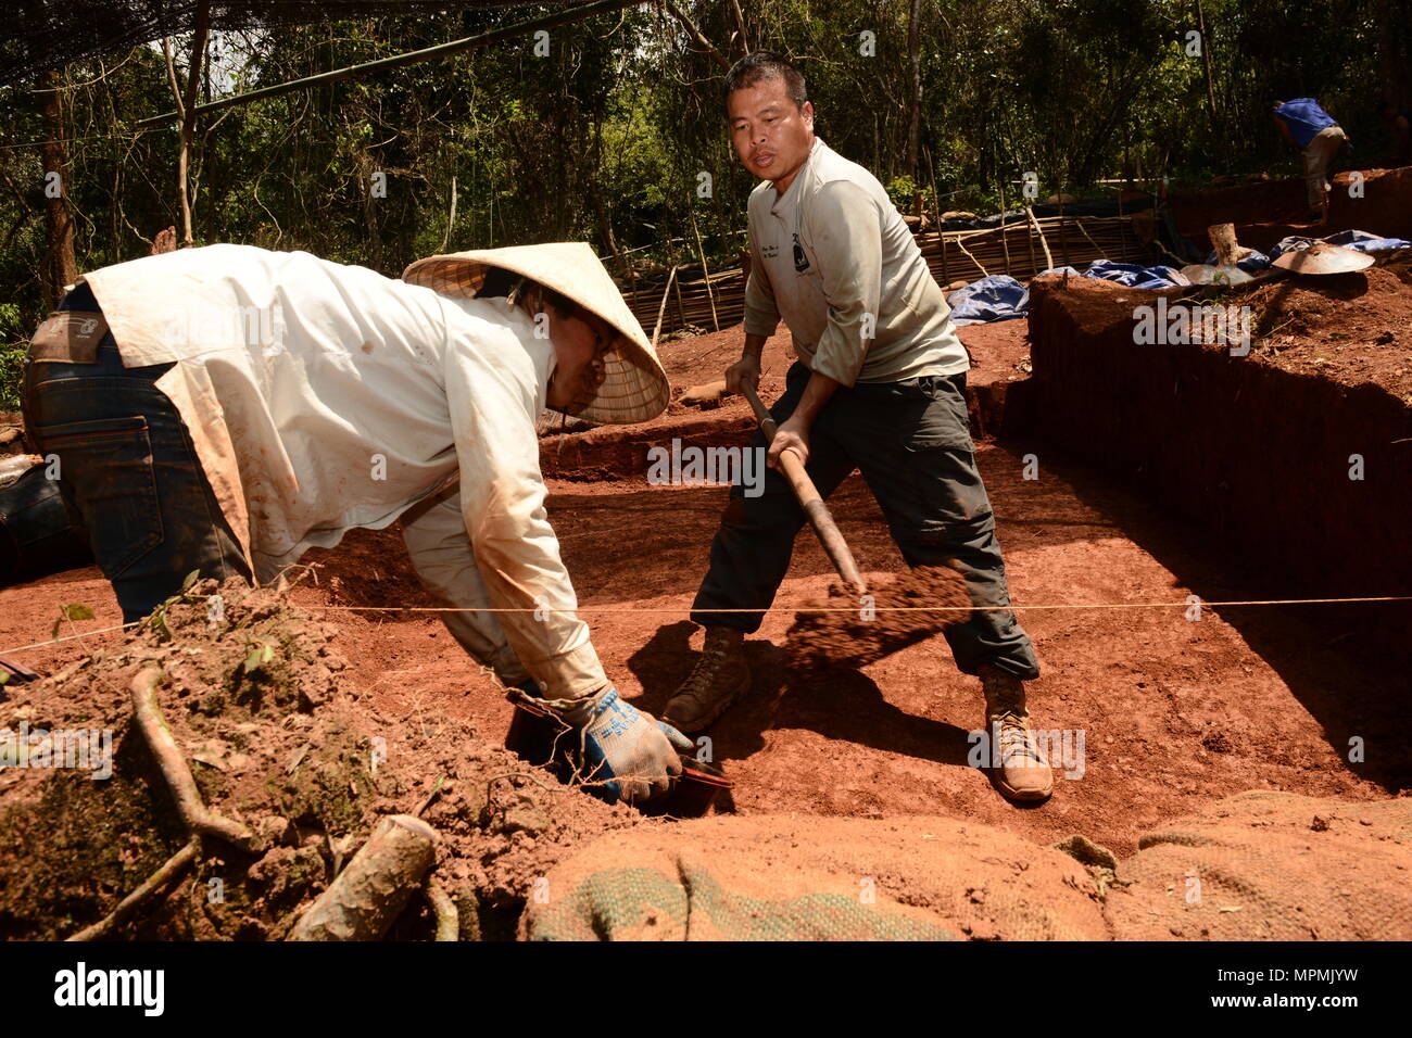
[[[85,284],[59,309],[99,306]],[[25,425],[88,530],[124,623],[176,595],[192,572],[250,579],[186,424],[152,384],[171,367],[123,367],[112,332],[95,363],[25,362]]]

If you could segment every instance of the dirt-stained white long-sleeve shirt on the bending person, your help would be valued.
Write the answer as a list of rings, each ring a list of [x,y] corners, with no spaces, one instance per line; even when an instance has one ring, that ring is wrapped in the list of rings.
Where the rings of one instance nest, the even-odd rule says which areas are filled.
[[[555,698],[607,684],[545,514],[535,418],[555,354],[528,315],[234,244],[80,280],[124,366],[175,362],[157,387],[257,579],[422,503],[404,537],[445,604],[541,610],[445,614],[467,650]]]

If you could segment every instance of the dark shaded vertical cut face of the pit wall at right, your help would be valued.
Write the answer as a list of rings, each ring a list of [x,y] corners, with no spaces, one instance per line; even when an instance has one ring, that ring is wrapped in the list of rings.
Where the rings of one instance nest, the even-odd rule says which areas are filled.
[[[1334,376],[1285,370],[1258,338],[1244,357],[1135,345],[1134,306],[1155,292],[1059,277],[1031,292],[1043,442],[1195,523],[1224,558],[1262,571],[1258,586],[1272,596],[1412,593],[1412,394],[1361,381],[1351,364]],[[1334,356],[1332,342],[1323,349]],[[1402,339],[1378,349],[1409,353]],[[1399,384],[1405,371],[1388,376]],[[1361,480],[1350,479],[1353,455]],[[1389,606],[1368,616],[1405,660],[1412,614]]]

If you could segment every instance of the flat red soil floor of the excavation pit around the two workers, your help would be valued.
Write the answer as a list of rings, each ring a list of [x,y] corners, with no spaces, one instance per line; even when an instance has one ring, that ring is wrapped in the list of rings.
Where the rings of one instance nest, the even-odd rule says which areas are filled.
[[[720,342],[729,345],[731,335],[722,333]],[[981,347],[981,371],[994,367],[997,377],[1008,378],[1008,357],[1022,347],[1022,336],[1021,322],[990,329],[986,339],[1007,345],[994,354]],[[974,333],[967,338],[974,342]],[[713,339],[699,343],[712,347]],[[688,349],[681,345],[682,353]],[[700,363],[703,376],[714,377],[714,362],[712,356]],[[692,367],[690,357],[671,363]],[[767,371],[778,367],[782,362]],[[729,424],[738,407],[731,401],[695,421]],[[659,419],[657,434],[640,428],[618,435],[648,442],[681,419]],[[722,442],[720,432],[703,435]],[[604,445],[611,434],[599,431],[590,439]],[[552,446],[546,443],[546,456]],[[1027,480],[1031,453],[1038,455],[1039,479]],[[1206,600],[1261,597],[1261,587],[1241,583],[1172,514],[1038,442],[981,443],[977,460],[1017,604],[1067,606],[1019,616],[1043,667],[1031,685],[1034,723],[1084,733],[1083,777],[1056,777],[1053,799],[1039,808],[1001,799],[967,765],[967,733],[983,722],[979,682],[956,672],[940,638],[861,671],[791,672],[782,650],[791,606],[823,597],[833,578],[819,545],[802,534],[779,609],[748,643],[751,689],[710,732],[713,757],[736,782],[733,802],[719,809],[940,813],[1041,842],[1082,832],[1130,853],[1137,835],[1156,821],[1243,789],[1374,799],[1408,784],[1412,754],[1398,734],[1402,693],[1375,660],[1346,651],[1347,631],[1282,609],[1207,610],[1200,621],[1185,619],[1179,607],[1111,609],[1180,603],[1189,593]],[[549,514],[610,678],[645,709],[661,710],[700,647],[686,612],[726,490],[647,486],[641,456],[628,462],[597,482],[551,479]],[[902,568],[858,477],[830,507],[870,580]],[[302,604],[425,602],[395,531],[354,531],[339,549],[311,552],[305,561],[318,565],[295,590]],[[79,628],[117,623],[97,572],[76,571],[0,590],[0,651],[47,638],[52,617],[69,602],[95,607],[96,620]],[[511,708],[494,682],[432,616],[329,614],[343,630],[337,648],[383,709],[414,715],[438,703],[480,732],[508,726]],[[80,645],[23,658],[49,671],[78,657]],[[1353,734],[1368,739],[1365,764],[1344,760]]]

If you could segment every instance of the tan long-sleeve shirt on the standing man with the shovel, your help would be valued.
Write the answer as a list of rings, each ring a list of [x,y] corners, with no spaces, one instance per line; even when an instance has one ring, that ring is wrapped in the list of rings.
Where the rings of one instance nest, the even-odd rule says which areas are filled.
[[[805,366],[844,386],[970,367],[912,232],[861,165],[815,137],[785,193],[762,181],[747,212],[747,333],[784,316]]]

